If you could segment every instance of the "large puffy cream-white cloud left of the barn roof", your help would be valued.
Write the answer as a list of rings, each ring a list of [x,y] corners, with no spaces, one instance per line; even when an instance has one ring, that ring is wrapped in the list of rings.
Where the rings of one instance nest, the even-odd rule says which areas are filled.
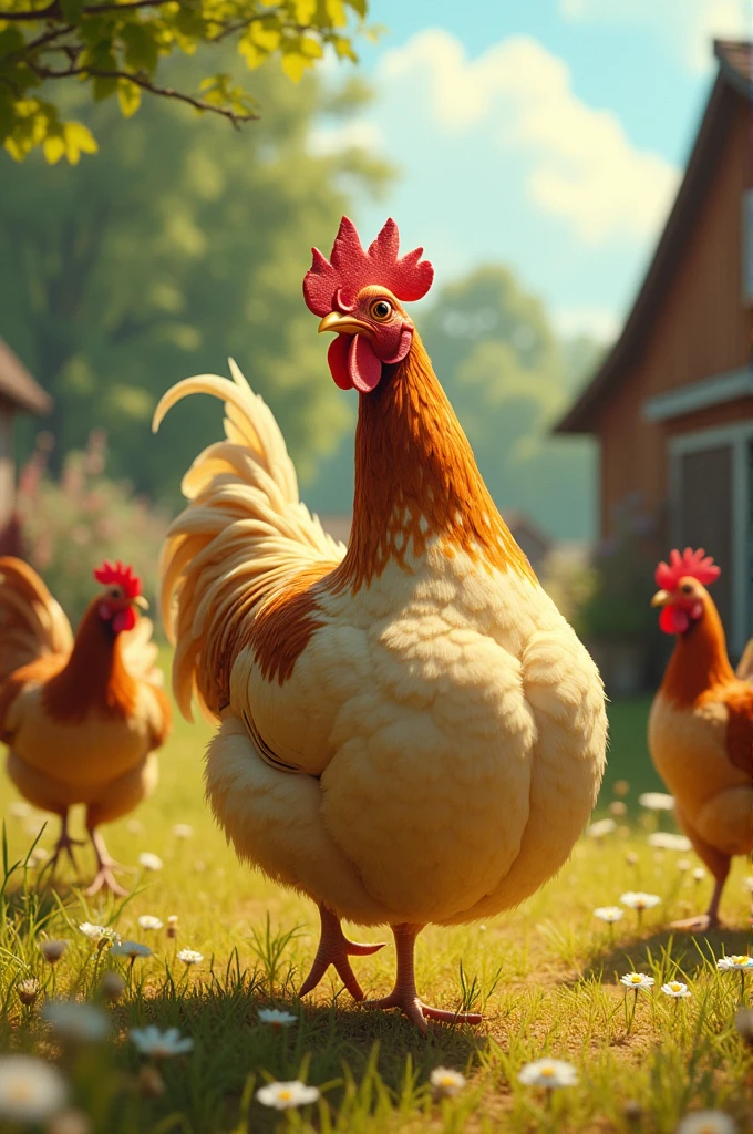
[[[667,214],[677,168],[579,100],[567,65],[534,39],[509,36],[469,60],[448,32],[421,32],[382,57],[378,79],[401,87],[406,107],[428,103],[440,135],[476,132],[522,156],[531,200],[585,242],[652,236]]]

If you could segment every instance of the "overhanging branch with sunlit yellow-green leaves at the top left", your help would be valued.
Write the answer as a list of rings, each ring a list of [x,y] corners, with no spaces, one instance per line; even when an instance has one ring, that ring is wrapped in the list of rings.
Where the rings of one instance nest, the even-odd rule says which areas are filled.
[[[197,90],[156,82],[160,61],[201,45],[235,41],[251,68],[279,56],[295,82],[325,46],[355,59],[352,17],[367,0],[0,0],[0,142],[20,161],[42,146],[51,163],[94,153],[85,122],[64,120],[41,88],[78,81],[95,101],[117,95],[126,118],[142,93],[222,115],[234,125],[259,117],[253,98],[228,70]]]

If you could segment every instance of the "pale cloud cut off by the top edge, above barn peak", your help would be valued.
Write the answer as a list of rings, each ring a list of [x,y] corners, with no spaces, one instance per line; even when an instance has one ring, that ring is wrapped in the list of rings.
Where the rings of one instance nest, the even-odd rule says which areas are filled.
[[[713,67],[713,39],[750,39],[751,0],[559,0],[572,22],[629,23],[650,27],[694,71]]]

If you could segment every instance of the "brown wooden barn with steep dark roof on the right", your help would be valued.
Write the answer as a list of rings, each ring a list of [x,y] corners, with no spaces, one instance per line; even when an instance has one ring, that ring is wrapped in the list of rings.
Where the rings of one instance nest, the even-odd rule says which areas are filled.
[[[557,433],[599,441],[600,528],[640,496],[665,547],[703,547],[730,653],[753,634],[753,44],[718,65],[621,335]]]

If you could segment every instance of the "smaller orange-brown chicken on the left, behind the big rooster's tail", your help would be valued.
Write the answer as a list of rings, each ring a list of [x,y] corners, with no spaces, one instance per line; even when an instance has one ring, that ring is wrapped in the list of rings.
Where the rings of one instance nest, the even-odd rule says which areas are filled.
[[[96,875],[86,890],[126,890],[99,830],[133,811],[158,775],[153,754],[170,730],[170,702],[155,667],[152,624],[130,567],[105,562],[94,572],[103,590],[74,638],[70,624],[36,572],[0,559],[0,738],[8,775],[35,807],[60,816],[52,864],[68,854],[68,812],[86,805]]]

